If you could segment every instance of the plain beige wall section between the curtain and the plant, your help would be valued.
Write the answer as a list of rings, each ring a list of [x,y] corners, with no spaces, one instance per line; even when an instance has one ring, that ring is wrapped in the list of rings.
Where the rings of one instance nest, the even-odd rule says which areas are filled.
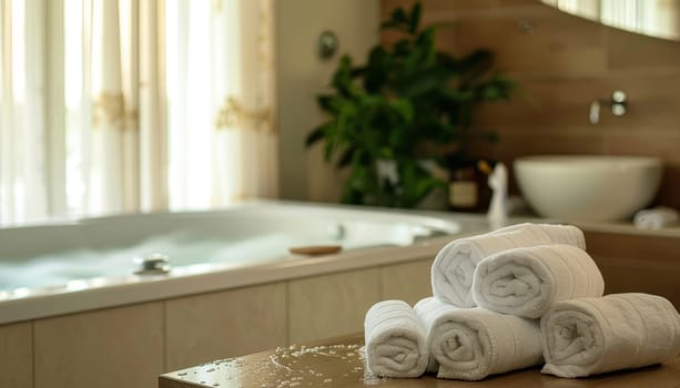
[[[276,75],[280,134],[280,195],[285,200],[339,198],[341,177],[322,160],[321,147],[304,140],[323,121],[316,94],[335,71],[339,54],[357,61],[379,40],[379,0],[276,1]],[[322,60],[316,40],[322,31],[339,38],[338,54]]]

